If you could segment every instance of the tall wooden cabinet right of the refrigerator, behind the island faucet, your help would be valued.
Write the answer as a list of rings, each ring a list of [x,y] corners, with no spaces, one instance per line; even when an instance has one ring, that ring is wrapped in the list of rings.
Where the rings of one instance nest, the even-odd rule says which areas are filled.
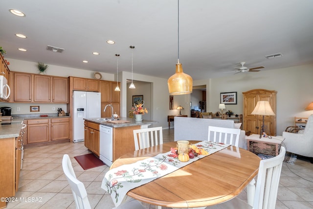
[[[118,82],[118,86],[120,83]],[[120,92],[115,92],[116,82],[114,81],[100,81],[100,93],[101,93],[101,117],[111,117],[112,114],[120,115]],[[103,112],[106,105],[112,104],[111,108]]]

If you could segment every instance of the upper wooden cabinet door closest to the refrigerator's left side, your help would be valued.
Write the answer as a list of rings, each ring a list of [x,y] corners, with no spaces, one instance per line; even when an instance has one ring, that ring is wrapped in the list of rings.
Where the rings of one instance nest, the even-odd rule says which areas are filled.
[[[52,77],[52,79],[53,79],[52,102],[67,103],[68,78]]]

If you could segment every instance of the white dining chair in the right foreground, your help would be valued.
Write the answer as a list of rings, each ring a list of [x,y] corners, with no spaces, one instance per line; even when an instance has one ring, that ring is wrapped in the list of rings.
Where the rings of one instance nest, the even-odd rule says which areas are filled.
[[[251,204],[253,207],[235,197],[227,202],[206,207],[205,209],[275,209],[285,154],[286,149],[282,146],[278,156],[260,161],[256,188],[253,191],[254,199]]]

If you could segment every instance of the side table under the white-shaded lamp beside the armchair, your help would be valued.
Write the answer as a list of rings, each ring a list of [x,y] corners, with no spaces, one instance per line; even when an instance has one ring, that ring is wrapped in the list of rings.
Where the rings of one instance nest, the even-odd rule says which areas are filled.
[[[272,139],[267,137],[259,138],[259,134],[251,134],[246,137],[247,150],[254,154],[265,154],[277,156],[281,147],[282,141],[285,139],[282,136],[275,136]]]

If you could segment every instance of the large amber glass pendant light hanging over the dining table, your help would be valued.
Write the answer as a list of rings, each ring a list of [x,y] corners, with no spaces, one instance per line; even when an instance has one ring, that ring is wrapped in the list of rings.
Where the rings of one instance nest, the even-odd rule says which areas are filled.
[[[192,77],[182,71],[182,65],[179,63],[179,0],[178,0],[178,63],[176,72],[168,81],[168,90],[170,95],[192,93]]]

